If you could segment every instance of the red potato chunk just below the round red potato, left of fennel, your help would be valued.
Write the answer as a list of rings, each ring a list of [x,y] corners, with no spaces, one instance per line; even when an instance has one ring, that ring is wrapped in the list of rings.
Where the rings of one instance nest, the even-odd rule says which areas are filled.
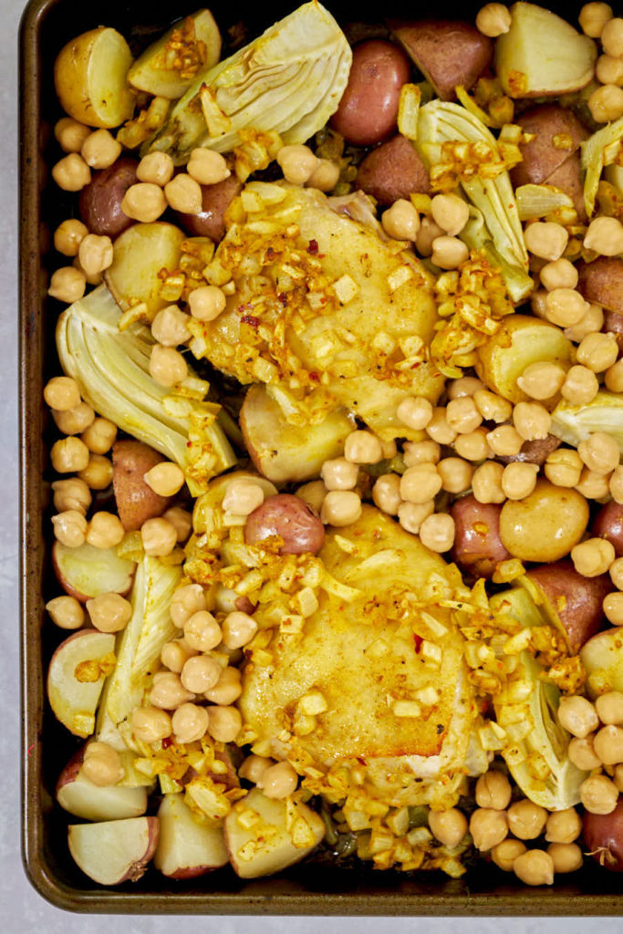
[[[368,153],[357,172],[357,187],[380,205],[393,205],[412,192],[431,191],[431,177],[411,140],[398,134]]]

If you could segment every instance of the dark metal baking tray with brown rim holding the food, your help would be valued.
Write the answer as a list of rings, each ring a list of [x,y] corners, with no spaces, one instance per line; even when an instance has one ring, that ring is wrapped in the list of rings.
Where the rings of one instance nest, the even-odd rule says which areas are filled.
[[[211,8],[223,33],[242,21],[253,37],[296,3],[216,0]],[[148,870],[137,883],[106,889],[94,886],[69,856],[67,815],[54,803],[53,792],[78,741],[56,722],[45,698],[48,660],[61,641],[59,631],[45,622],[44,611],[45,600],[58,592],[46,545],[48,426],[41,402],[46,379],[58,372],[53,337],[58,305],[47,297],[46,287],[49,269],[58,264],[50,249],[50,231],[68,216],[62,192],[50,184],[49,165],[59,158],[50,146],[51,128],[61,116],[52,65],[66,41],[102,22],[115,26],[140,49],[170,21],[198,6],[107,0],[96,11],[83,0],[31,0],[21,21],[21,761],[22,853],[28,877],[58,907],[90,913],[617,915],[623,907],[621,878],[591,861],[567,882],[537,889],[516,883],[484,861],[460,880],[448,880],[441,873],[404,875],[311,861],[252,882],[238,879],[229,869],[183,883]],[[327,6],[341,23],[379,19],[376,5],[358,0],[327,0]],[[443,14],[466,18],[478,6],[447,0]],[[580,5],[557,6],[571,19]],[[415,18],[427,12],[404,0],[389,0],[381,15]]]

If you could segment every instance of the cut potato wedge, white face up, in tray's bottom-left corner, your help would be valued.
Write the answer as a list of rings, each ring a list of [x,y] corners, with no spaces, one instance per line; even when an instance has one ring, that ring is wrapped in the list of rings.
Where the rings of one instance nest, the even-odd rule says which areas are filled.
[[[97,824],[70,824],[69,852],[79,868],[100,885],[136,882],[158,845],[157,817],[129,817]]]

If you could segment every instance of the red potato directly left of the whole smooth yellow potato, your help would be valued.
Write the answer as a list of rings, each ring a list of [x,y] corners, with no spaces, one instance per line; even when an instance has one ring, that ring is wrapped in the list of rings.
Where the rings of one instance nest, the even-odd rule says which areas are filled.
[[[461,571],[477,577],[491,577],[496,565],[511,556],[500,539],[501,506],[478,502],[470,493],[450,510],[455,521],[452,559]]]

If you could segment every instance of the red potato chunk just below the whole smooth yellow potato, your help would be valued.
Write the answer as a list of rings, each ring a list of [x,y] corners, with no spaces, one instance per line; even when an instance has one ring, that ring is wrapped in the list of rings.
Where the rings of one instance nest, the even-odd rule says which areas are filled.
[[[532,568],[527,577],[558,612],[571,651],[577,654],[590,637],[602,629],[602,602],[612,590],[610,577],[608,574],[583,577],[571,560],[542,564]]]

